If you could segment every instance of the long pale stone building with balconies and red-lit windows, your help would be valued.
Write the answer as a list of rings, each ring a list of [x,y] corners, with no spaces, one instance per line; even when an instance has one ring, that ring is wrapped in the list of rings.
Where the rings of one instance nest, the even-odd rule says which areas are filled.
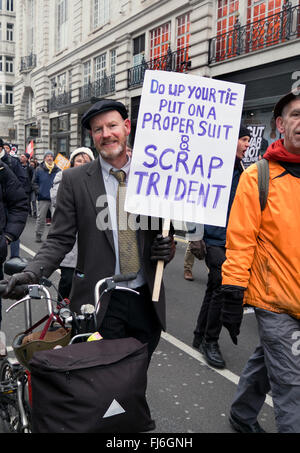
[[[80,119],[101,98],[127,106],[132,144],[147,69],[245,83],[244,119],[272,138],[274,101],[300,79],[299,9],[299,0],[18,0],[20,150],[31,140],[37,157],[90,146]]]

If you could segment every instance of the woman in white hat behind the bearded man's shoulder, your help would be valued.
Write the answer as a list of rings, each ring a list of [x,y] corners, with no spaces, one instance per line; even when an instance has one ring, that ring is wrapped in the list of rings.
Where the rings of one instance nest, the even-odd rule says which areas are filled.
[[[89,148],[81,147],[75,149],[70,155],[71,168],[85,165],[94,160],[93,152]],[[56,195],[59,184],[62,180],[63,172],[57,173],[53,186],[50,190],[52,212],[54,212],[56,205]],[[60,263],[61,277],[58,285],[59,300],[68,298],[71,292],[72,279],[74,269],[77,262],[77,241],[73,249],[67,253],[63,261]]]

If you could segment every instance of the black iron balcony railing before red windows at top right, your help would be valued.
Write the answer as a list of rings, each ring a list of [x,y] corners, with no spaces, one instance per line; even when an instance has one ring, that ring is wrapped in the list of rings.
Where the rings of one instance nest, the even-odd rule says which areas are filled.
[[[300,6],[286,2],[279,13],[234,28],[209,42],[209,64],[266,49],[300,37]]]

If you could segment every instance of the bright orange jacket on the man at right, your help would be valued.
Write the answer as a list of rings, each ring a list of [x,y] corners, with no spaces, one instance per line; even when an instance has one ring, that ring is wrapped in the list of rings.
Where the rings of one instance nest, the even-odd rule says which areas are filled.
[[[261,212],[257,167],[240,178],[226,237],[222,284],[246,289],[244,303],[300,319],[300,178],[269,162]]]

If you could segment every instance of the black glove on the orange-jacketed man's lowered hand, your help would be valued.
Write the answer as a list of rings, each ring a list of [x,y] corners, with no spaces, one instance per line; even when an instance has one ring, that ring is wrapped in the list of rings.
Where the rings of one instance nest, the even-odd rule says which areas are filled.
[[[219,290],[222,301],[221,322],[228,329],[230,338],[237,344],[237,336],[243,319],[243,298],[246,288],[242,286],[223,285]]]

